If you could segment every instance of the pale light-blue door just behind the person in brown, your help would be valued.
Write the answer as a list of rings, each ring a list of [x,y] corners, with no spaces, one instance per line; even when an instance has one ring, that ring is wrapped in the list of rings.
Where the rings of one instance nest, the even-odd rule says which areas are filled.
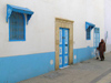
[[[99,28],[94,28],[94,42],[93,42],[93,45],[94,45],[94,49],[97,46],[99,46],[99,42],[100,42],[100,29]]]

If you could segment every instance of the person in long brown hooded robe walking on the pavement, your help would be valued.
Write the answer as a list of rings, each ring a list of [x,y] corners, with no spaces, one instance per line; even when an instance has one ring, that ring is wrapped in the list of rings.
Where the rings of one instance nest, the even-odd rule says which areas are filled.
[[[103,39],[101,39],[101,42],[99,43],[99,51],[100,51],[100,59],[101,61],[103,61],[105,52],[105,42],[103,41]]]

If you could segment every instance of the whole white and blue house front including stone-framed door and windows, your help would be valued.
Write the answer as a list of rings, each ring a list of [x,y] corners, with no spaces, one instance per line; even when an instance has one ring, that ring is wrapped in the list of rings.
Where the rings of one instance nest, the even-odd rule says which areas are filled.
[[[104,39],[104,0],[0,0],[0,83],[89,60]]]

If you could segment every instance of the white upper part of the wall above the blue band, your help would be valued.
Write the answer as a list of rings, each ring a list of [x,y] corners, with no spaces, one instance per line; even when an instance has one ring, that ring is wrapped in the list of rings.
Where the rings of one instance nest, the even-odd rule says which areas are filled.
[[[73,49],[93,46],[85,40],[85,21],[97,24],[104,38],[104,0],[0,0],[0,56],[53,52],[56,18],[73,20]],[[26,41],[9,42],[7,4],[34,11],[26,27]]]

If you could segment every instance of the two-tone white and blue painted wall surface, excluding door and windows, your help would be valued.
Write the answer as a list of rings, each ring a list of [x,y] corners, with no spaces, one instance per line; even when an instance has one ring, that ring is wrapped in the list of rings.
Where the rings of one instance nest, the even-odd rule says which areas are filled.
[[[34,12],[26,25],[26,41],[9,41],[7,4]],[[73,63],[92,58],[87,48],[93,46],[93,30],[91,40],[85,40],[85,21],[99,27],[101,39],[104,38],[103,9],[104,0],[0,0],[0,83],[16,83],[54,71],[56,18],[74,21],[72,43],[78,60]]]

